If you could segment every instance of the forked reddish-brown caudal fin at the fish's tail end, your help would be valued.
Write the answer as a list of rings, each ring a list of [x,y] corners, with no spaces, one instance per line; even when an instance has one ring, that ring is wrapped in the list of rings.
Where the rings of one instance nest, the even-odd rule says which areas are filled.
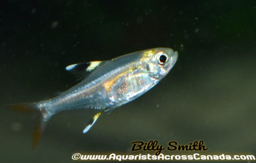
[[[35,125],[32,140],[32,148],[34,149],[37,146],[37,142],[40,139],[40,136],[42,135],[49,120],[49,115],[47,111],[45,110],[45,108],[39,108],[37,103],[14,104],[9,106],[13,110],[19,112],[37,115],[37,123]]]

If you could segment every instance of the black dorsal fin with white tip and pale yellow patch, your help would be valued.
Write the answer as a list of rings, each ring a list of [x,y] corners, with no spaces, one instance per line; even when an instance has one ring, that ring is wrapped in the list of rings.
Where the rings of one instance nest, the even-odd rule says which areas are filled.
[[[84,79],[90,72],[98,69],[102,63],[106,61],[91,61],[84,63],[75,63],[66,67],[66,70],[71,72],[77,80]]]

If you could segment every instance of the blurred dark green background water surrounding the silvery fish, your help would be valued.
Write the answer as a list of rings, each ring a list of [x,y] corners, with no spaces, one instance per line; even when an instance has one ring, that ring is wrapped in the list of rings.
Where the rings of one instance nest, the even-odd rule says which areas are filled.
[[[39,101],[72,87],[77,82],[67,65],[152,47],[179,51],[171,72],[101,116],[87,134],[76,113],[59,113],[33,151],[34,116],[2,107],[1,162],[135,154],[135,140],[164,146],[204,140],[203,154],[256,154],[255,0],[2,1],[0,104]]]

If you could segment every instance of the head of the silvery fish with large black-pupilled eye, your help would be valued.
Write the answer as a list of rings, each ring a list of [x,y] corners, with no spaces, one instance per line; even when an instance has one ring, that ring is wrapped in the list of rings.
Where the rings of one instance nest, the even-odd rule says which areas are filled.
[[[167,47],[151,49],[145,54],[147,54],[146,70],[156,81],[165,77],[178,59],[178,52]]]

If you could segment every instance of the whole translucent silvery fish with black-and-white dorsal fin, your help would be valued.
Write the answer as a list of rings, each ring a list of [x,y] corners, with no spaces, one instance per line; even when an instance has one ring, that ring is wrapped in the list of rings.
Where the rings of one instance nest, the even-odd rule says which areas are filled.
[[[63,110],[85,111],[90,117],[83,130],[86,133],[103,112],[110,113],[154,87],[172,69],[177,58],[177,51],[158,47],[105,61],[75,63],[66,70],[81,80],[77,85],[51,99],[11,107],[37,115],[33,148],[49,119]]]

